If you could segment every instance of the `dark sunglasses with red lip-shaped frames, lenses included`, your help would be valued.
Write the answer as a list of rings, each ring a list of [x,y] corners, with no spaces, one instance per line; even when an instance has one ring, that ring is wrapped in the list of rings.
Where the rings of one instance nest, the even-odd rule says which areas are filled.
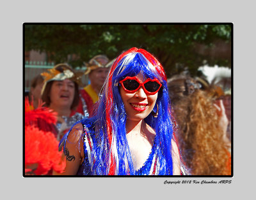
[[[148,78],[147,80],[145,80],[145,82],[142,83],[140,82],[140,80],[138,80],[136,76],[127,76],[119,83],[122,85],[125,92],[133,93],[139,90],[140,87],[142,87],[144,92],[149,95],[156,94],[162,86],[157,78],[154,78],[153,80],[151,78]]]

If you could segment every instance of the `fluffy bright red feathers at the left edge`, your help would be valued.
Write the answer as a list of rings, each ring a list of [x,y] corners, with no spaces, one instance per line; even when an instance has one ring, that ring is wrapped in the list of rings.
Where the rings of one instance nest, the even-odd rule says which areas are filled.
[[[51,170],[62,173],[65,169],[66,162],[58,151],[59,142],[49,128],[56,121],[56,113],[42,105],[33,110],[25,99],[25,173],[33,171],[32,166],[36,168],[35,175],[47,175]]]

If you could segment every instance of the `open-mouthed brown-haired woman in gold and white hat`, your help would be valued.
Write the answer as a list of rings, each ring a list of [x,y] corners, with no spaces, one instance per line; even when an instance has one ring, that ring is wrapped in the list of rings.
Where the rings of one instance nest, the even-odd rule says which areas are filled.
[[[60,140],[75,122],[84,117],[76,112],[82,73],[75,73],[67,64],[57,64],[41,75],[44,76],[42,101],[58,113],[55,131],[52,129],[52,132]]]

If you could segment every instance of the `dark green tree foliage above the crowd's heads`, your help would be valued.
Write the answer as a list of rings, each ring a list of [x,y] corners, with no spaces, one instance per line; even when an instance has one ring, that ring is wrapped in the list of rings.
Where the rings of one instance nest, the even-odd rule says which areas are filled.
[[[159,59],[168,76],[203,64],[231,66],[232,24],[24,24],[26,51],[83,66],[94,55],[109,59],[133,46]],[[72,58],[68,55],[73,55]]]

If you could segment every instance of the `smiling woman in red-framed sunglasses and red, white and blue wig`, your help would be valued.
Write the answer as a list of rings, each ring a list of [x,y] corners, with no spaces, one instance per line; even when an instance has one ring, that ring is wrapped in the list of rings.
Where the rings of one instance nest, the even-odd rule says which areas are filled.
[[[93,117],[63,137],[61,175],[180,175],[166,75],[147,51],[131,48],[111,67]]]

